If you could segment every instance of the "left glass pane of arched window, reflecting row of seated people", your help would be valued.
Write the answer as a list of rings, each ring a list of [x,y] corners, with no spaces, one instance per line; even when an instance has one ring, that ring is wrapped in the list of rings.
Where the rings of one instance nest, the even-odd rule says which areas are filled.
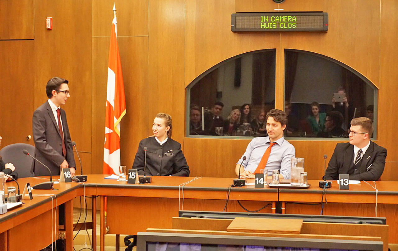
[[[252,51],[195,78],[187,86],[186,135],[264,136],[264,112],[275,108],[275,58],[276,49]]]

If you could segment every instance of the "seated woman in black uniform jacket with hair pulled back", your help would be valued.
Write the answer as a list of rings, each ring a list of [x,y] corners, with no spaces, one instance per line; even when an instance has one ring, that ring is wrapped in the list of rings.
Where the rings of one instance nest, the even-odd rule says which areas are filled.
[[[146,174],[160,176],[189,176],[189,167],[181,151],[181,144],[172,137],[172,117],[158,113],[153,120],[153,136],[142,139],[133,162],[133,169],[144,175],[144,147]]]

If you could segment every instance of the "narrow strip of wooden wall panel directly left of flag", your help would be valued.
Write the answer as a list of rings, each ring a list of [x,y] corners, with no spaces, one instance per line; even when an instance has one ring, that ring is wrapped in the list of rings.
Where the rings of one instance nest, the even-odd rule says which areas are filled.
[[[103,167],[109,43],[109,36],[92,38],[92,174],[102,174]]]

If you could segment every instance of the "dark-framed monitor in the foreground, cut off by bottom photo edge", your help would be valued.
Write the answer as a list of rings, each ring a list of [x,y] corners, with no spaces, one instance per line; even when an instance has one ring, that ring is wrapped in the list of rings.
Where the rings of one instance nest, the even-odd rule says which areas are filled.
[[[265,251],[360,250],[382,251],[382,241],[304,239],[188,233],[137,233],[137,250],[145,251]]]

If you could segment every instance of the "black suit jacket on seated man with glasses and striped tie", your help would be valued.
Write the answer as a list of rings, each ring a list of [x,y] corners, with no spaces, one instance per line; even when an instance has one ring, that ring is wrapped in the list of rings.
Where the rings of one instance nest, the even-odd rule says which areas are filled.
[[[355,171],[354,146],[350,143],[337,143],[326,169],[326,180],[337,180],[339,174],[348,174],[350,180],[378,180],[384,171],[386,157],[387,149],[371,141],[359,170]]]

